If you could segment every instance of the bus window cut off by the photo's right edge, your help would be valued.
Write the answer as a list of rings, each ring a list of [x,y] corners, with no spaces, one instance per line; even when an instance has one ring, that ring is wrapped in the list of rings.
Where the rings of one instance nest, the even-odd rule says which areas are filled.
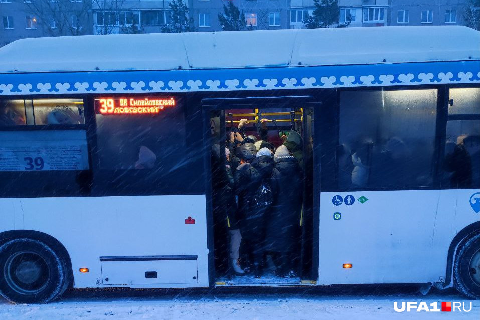
[[[451,88],[449,98],[442,186],[479,188],[480,88]]]

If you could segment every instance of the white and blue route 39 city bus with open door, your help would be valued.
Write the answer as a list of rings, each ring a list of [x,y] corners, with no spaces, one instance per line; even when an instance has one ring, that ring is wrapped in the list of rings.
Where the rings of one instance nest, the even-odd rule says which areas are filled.
[[[422,26],[6,45],[0,294],[429,283],[478,298],[479,43]],[[302,137],[298,277],[226,270],[211,150],[242,118],[267,118],[272,144]]]

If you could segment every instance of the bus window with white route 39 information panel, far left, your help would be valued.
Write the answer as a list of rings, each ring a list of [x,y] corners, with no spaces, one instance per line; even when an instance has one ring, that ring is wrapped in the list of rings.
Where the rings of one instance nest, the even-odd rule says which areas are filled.
[[[80,99],[0,100],[0,196],[89,194]]]

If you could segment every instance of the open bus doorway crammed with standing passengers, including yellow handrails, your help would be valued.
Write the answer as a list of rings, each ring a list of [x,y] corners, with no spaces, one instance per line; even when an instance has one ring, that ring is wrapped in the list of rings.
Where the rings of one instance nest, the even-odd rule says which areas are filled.
[[[210,126],[216,284],[316,280],[313,107],[228,105]]]

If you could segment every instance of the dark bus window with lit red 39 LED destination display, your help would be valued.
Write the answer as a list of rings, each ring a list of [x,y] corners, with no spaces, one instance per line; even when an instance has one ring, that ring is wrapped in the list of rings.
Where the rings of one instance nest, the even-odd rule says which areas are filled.
[[[173,99],[175,104],[155,104],[162,99]],[[132,107],[135,104],[139,106]],[[186,109],[180,97],[98,98],[95,108],[97,193],[175,194],[198,183],[189,170],[203,168],[201,143],[188,143],[192,136],[187,134]],[[194,134],[197,141],[201,139],[201,131]]]

